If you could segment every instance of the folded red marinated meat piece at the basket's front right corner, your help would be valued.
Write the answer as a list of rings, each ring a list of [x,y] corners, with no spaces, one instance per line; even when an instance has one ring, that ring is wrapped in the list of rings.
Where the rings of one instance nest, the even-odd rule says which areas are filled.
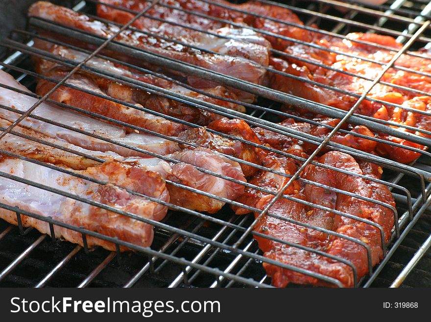
[[[316,161],[324,165],[346,170],[350,173],[366,174],[370,177],[374,176],[374,172],[369,171],[370,167],[366,167],[363,171],[355,159],[342,152],[328,152]],[[272,160],[272,164],[272,169],[286,174],[292,174],[296,170],[296,166],[287,159]],[[362,166],[365,167],[366,165]],[[366,197],[381,201],[388,206],[395,206],[394,199],[387,187],[354,175],[310,165],[302,177],[329,187],[354,193],[358,197]],[[249,182],[277,193],[283,187],[283,184],[287,182],[287,178],[279,174],[263,172],[253,181],[250,180]],[[387,243],[394,224],[394,213],[389,207],[348,196],[341,192],[333,192],[311,183],[301,184],[296,181],[285,194],[296,198],[296,200],[305,200],[322,205],[327,207],[328,210],[312,208],[295,200],[280,198],[269,209],[270,214],[276,215],[279,218],[271,215],[263,216],[255,227],[256,232],[277,238],[280,241],[321,250],[347,260],[356,267],[358,278],[368,272],[367,251],[362,245],[342,237],[306,228],[300,224],[289,223],[283,220],[283,218],[333,230],[365,243],[370,248],[371,264],[373,266],[382,259],[383,250],[380,230],[369,223],[360,222],[358,219],[366,219],[380,225],[384,232],[383,240]],[[263,209],[272,198],[273,195],[249,189],[237,201]],[[332,209],[356,216],[358,219],[334,214],[331,212]],[[240,212],[240,209],[237,209],[237,213],[242,212]],[[259,212],[255,213],[256,216],[258,214]],[[265,257],[280,263],[303,268],[310,272],[333,277],[339,280],[344,286],[353,286],[354,284],[351,267],[336,259],[294,246],[288,246],[280,241],[269,240],[263,236],[255,235],[255,238],[258,240],[259,248],[263,250]],[[272,284],[278,287],[284,287],[288,283],[328,285],[328,283],[318,278],[293,272],[277,265],[264,263],[263,267],[267,274],[271,276]]]

